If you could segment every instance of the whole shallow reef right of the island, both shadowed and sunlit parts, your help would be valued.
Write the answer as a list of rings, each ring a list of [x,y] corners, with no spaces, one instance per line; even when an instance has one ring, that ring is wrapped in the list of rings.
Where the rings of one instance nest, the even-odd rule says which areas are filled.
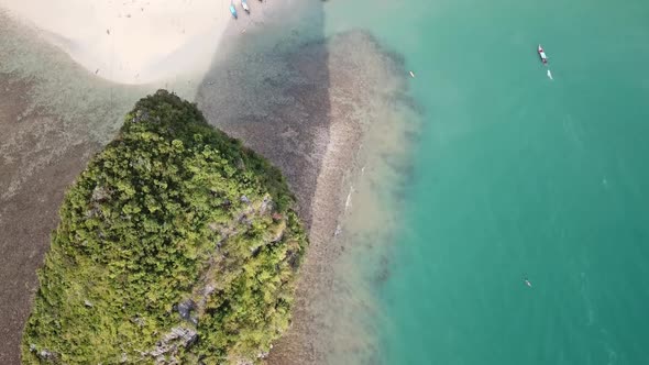
[[[402,180],[419,118],[403,60],[363,32],[235,49],[207,74],[199,107],[280,167],[310,229],[293,327],[270,363],[371,357],[375,333],[358,314],[371,310],[373,294],[365,268],[353,266],[381,265],[361,257],[370,257],[367,234],[384,240],[396,220],[382,187]]]

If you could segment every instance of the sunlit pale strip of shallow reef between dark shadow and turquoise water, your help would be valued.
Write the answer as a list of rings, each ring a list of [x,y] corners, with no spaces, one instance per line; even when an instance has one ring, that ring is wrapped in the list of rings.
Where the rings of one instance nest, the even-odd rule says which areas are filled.
[[[311,252],[293,332],[273,364],[376,364],[381,311],[373,286],[388,275],[396,189],[407,177],[419,111],[403,60],[362,32],[333,37],[329,144],[311,206]]]

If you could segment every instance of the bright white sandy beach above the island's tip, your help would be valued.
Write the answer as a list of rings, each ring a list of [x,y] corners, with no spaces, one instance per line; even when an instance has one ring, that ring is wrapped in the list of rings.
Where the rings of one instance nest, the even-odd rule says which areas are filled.
[[[0,0],[0,11],[38,30],[90,73],[121,84],[202,74],[233,21],[229,5],[228,0]]]

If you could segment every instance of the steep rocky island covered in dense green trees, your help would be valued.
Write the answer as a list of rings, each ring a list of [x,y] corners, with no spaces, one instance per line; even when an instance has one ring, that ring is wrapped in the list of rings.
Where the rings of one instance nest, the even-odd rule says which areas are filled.
[[[307,245],[279,170],[160,90],[69,189],[26,364],[255,364]]]

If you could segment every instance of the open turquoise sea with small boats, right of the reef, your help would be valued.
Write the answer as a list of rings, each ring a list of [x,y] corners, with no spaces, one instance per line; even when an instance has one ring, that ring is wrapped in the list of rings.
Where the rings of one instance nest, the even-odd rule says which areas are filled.
[[[378,358],[649,364],[649,3],[324,9],[404,55],[425,110]]]

